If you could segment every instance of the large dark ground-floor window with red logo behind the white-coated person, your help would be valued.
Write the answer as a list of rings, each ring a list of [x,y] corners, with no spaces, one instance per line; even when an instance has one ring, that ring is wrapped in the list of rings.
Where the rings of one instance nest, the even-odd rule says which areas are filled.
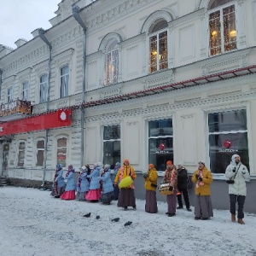
[[[233,154],[239,154],[242,163],[249,167],[245,109],[209,113],[208,128],[212,173],[224,173]]]

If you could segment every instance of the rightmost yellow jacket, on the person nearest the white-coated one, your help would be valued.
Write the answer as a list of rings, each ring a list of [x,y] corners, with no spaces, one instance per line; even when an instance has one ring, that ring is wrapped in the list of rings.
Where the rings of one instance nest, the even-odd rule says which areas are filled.
[[[199,170],[196,170],[192,176],[192,182],[196,183],[197,178],[195,177],[196,174],[199,173]],[[212,173],[207,169],[207,167],[203,167],[202,169],[202,182],[204,185],[200,186],[199,188],[196,188],[195,186],[195,195],[211,195],[211,189],[210,184],[212,183]]]

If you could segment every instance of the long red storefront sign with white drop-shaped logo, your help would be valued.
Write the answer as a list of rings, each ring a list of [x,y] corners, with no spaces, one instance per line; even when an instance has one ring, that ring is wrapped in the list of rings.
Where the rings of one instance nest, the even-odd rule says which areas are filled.
[[[0,124],[0,136],[40,131],[71,125],[71,109],[45,113],[28,119],[20,119]]]

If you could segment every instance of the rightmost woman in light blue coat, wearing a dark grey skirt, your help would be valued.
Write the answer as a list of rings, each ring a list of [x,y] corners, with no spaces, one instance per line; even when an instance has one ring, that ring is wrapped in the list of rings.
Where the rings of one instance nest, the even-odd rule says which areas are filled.
[[[113,183],[110,177],[110,166],[105,165],[101,177],[98,177],[101,184],[101,201],[102,204],[109,205],[113,201]]]

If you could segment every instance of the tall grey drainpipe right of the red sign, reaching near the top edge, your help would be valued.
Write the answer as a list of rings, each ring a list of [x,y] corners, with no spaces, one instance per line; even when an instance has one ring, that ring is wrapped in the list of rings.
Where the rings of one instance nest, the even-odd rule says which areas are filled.
[[[78,21],[79,25],[82,26],[84,32],[83,44],[84,44],[84,55],[83,55],[83,85],[82,85],[82,94],[83,100],[81,105],[81,166],[84,166],[84,103],[85,103],[85,68],[86,68],[86,26],[81,16],[79,15],[79,7],[74,5],[73,8],[73,17]]]

